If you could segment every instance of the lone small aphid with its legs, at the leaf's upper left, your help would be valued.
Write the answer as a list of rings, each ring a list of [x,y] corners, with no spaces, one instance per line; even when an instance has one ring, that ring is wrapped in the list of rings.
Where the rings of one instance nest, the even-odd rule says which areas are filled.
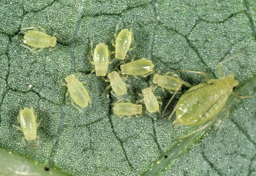
[[[32,27],[23,27],[20,30],[26,30],[26,29],[34,29],[31,31],[24,32],[24,40],[23,42],[27,44],[28,46],[34,47],[33,49],[29,48],[28,46],[25,46],[21,44],[21,46],[24,46],[25,48],[29,49],[32,53],[38,53],[43,51],[44,48],[49,47],[49,51],[54,51],[57,49],[57,47],[53,48],[56,45],[56,37],[59,35],[54,32],[52,36],[46,34],[45,30],[37,26],[39,29],[41,29],[43,32],[39,31],[38,28],[32,26]],[[36,48],[40,48],[36,51]]]

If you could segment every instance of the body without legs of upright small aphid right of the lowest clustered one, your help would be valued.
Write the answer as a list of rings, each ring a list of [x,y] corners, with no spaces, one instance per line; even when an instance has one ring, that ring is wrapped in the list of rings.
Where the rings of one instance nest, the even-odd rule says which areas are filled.
[[[155,113],[159,109],[159,104],[156,96],[153,94],[151,88],[145,88],[142,90],[144,96],[144,103],[149,112]]]

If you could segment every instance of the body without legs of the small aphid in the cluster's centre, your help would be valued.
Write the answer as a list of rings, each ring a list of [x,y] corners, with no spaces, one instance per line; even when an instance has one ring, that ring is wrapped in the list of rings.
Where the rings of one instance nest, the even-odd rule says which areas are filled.
[[[110,85],[116,95],[124,95],[127,92],[126,85],[119,74],[114,71],[108,74]]]

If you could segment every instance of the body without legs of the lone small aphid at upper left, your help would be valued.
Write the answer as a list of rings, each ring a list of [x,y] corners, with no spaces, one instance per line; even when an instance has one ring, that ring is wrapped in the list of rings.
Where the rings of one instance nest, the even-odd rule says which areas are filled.
[[[54,47],[56,45],[56,37],[47,35],[40,31],[28,31],[24,35],[26,44],[36,48]]]

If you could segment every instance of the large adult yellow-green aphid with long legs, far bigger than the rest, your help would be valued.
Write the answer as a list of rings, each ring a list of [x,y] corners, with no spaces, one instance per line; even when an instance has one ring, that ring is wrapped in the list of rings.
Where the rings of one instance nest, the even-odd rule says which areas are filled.
[[[217,65],[222,78],[209,80],[208,77],[206,77],[207,81],[191,87],[190,89],[188,89],[186,93],[184,93],[180,97],[178,103],[176,104],[175,108],[172,111],[172,114],[167,119],[169,120],[176,111],[176,119],[173,122],[173,126],[197,126],[205,123],[206,121],[209,122],[206,123],[204,126],[198,128],[197,130],[191,132],[190,134],[185,135],[183,137],[178,137],[176,139],[187,137],[212,124],[212,122],[215,119],[215,115],[218,114],[224,106],[227,111],[227,114],[221,119],[221,122],[216,130],[217,133],[221,123],[229,114],[229,109],[226,106],[226,101],[231,94],[241,99],[256,97],[242,96],[233,92],[234,87],[236,87],[239,84],[239,82],[234,79],[234,74],[229,74],[228,76],[225,76],[220,68],[221,64],[233,59],[241,53],[243,52],[240,52],[235,56],[229,58],[228,60],[220,62]],[[193,71],[187,70],[178,71],[195,73]]]

